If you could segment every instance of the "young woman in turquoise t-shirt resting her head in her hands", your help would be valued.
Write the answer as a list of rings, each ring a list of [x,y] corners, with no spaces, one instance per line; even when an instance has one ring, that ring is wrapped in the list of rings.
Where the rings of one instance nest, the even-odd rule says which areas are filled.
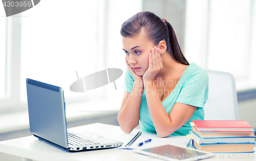
[[[158,137],[184,136],[204,119],[208,74],[183,56],[174,29],[152,12],[139,12],[120,30],[127,69],[118,113],[121,129],[138,124]]]

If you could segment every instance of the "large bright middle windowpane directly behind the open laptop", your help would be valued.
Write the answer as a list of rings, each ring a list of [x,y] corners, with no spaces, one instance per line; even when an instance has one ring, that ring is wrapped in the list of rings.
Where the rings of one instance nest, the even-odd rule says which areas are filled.
[[[100,70],[97,65],[97,1],[70,3],[41,1],[23,13],[21,39],[21,100],[26,101],[26,78],[63,87],[65,97],[74,93],[70,85],[79,77]],[[56,6],[58,6],[56,8]],[[47,9],[47,12],[46,12]],[[42,14],[44,13],[44,14]],[[29,16],[26,16],[29,15]],[[100,58],[98,58],[100,59]],[[86,97],[85,97],[86,98]]]

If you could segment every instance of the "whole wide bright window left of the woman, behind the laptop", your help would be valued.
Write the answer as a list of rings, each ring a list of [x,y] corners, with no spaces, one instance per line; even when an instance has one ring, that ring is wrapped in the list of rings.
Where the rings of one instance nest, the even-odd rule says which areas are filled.
[[[132,10],[124,10],[124,6]],[[2,37],[7,32],[0,31],[0,41],[8,45],[6,59],[1,43],[4,48],[1,47],[0,74],[10,73],[8,81],[0,77],[0,97],[7,91],[10,99],[0,100],[1,108],[27,109],[26,78],[63,87],[66,102],[115,97],[121,101],[123,75],[116,81],[118,90],[113,83],[85,93],[71,92],[69,88],[77,80],[76,71],[83,77],[106,68],[125,70],[119,30],[122,22],[139,11],[141,1],[136,0],[54,1],[51,5],[49,1],[40,1],[32,9],[8,17],[7,43]],[[0,29],[5,29],[3,8],[2,12]]]

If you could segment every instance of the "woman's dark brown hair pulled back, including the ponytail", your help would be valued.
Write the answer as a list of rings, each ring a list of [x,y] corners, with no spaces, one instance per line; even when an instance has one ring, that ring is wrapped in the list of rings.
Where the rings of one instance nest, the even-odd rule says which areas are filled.
[[[155,45],[164,40],[170,56],[178,63],[189,65],[181,51],[174,29],[166,19],[161,19],[152,12],[139,12],[123,22],[120,29],[123,37],[136,36],[142,31],[147,33],[148,40],[153,41]]]

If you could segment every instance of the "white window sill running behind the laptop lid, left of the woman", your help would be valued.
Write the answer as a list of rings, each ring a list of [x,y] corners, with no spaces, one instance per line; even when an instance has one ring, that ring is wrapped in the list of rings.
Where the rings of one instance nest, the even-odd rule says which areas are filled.
[[[120,104],[121,102],[110,99],[93,102],[66,103],[67,122],[117,114]],[[26,129],[29,129],[28,110],[0,115],[0,133]]]

